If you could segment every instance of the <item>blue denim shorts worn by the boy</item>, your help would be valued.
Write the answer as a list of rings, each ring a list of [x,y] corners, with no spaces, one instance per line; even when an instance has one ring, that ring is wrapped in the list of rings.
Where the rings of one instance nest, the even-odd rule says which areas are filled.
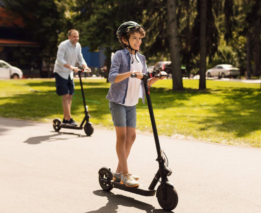
[[[136,128],[136,105],[124,106],[119,103],[109,101],[109,107],[114,126]]]

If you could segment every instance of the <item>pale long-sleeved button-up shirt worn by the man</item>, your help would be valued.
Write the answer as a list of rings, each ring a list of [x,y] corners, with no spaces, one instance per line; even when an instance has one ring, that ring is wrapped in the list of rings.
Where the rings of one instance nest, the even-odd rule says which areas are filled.
[[[81,67],[86,65],[80,43],[77,42],[73,46],[69,39],[65,40],[58,46],[53,72],[58,73],[64,79],[68,79],[69,76],[73,79],[73,71],[63,65],[69,64],[75,66],[76,61],[78,61]]]

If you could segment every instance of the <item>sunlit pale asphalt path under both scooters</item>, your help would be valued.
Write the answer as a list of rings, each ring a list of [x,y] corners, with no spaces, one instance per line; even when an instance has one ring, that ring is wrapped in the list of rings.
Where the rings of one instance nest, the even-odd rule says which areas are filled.
[[[101,190],[98,170],[116,169],[116,134],[94,127],[0,118],[0,212],[165,212],[156,196]],[[261,149],[160,137],[182,212],[261,212]],[[158,170],[154,138],[137,134],[130,172],[149,185]],[[158,185],[157,185],[158,187]]]

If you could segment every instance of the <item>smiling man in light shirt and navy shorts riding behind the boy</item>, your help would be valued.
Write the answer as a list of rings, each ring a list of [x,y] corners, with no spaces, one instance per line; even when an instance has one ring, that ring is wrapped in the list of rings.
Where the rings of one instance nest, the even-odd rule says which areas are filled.
[[[68,40],[63,41],[58,46],[57,58],[54,65],[54,75],[56,81],[56,93],[63,96],[63,122],[62,125],[77,126],[71,116],[72,97],[74,94],[73,71],[78,72],[75,67],[76,61],[90,72],[86,62],[83,59],[82,48],[78,43],[79,32],[77,30],[68,31]]]

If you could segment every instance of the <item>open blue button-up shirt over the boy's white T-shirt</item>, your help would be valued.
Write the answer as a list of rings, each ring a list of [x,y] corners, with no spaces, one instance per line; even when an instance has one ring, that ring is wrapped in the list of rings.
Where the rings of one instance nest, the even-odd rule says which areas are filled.
[[[139,56],[142,66],[143,66],[143,73],[147,73],[147,65],[145,56],[137,52],[137,55]],[[133,55],[133,57],[135,57]],[[131,69],[131,56],[130,51],[125,48],[124,50],[117,51],[111,62],[110,72],[109,72],[109,82],[111,83],[110,89],[108,92],[108,95],[106,98],[112,102],[115,103],[125,103],[125,98],[127,94],[128,89],[128,81],[129,78],[124,79],[120,82],[114,83],[116,76],[120,73],[129,72]],[[141,81],[141,87],[142,87],[142,102],[145,103],[145,89],[143,81]]]

